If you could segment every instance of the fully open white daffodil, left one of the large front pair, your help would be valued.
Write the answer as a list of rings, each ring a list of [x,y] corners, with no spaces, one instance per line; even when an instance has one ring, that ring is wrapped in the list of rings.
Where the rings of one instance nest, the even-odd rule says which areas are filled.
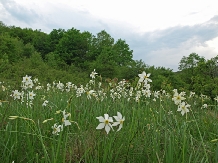
[[[110,123],[113,122],[113,119],[112,117],[109,117],[108,114],[104,114],[104,117],[100,116],[100,117],[96,117],[100,124],[96,127],[96,129],[103,129],[105,128],[105,131],[107,132],[107,134],[109,133],[110,129],[112,128],[113,130],[113,127]]]

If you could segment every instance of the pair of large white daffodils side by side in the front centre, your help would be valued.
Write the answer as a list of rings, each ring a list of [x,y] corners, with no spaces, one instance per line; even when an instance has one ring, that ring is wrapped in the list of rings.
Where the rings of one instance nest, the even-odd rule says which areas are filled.
[[[120,131],[120,129],[123,127],[123,122],[125,121],[125,117],[122,116],[120,112],[117,112],[117,116],[113,116],[116,122],[113,122],[113,118],[110,117],[108,114],[104,114],[103,116],[96,117],[100,124],[96,127],[96,129],[103,129],[105,128],[106,133],[108,134],[110,129],[113,130],[113,126],[119,125],[119,128],[117,131]]]

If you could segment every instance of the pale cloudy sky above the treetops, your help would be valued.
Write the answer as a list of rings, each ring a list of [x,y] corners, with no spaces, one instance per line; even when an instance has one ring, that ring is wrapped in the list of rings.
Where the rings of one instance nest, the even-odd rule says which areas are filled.
[[[183,56],[218,55],[217,0],[0,0],[7,26],[105,30],[125,40],[133,59],[178,71]]]

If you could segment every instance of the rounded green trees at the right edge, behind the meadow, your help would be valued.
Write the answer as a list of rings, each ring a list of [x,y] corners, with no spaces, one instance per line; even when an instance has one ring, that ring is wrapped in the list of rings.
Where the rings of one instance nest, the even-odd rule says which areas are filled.
[[[218,93],[218,56],[205,60],[196,53],[183,57],[180,61],[182,71],[179,76],[186,83],[186,89],[205,94],[214,99]]]

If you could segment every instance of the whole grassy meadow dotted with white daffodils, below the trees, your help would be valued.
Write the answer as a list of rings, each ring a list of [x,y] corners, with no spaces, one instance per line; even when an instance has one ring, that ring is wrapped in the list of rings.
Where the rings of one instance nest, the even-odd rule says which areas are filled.
[[[218,96],[153,90],[149,72],[130,83],[0,81],[2,163],[216,163]]]

